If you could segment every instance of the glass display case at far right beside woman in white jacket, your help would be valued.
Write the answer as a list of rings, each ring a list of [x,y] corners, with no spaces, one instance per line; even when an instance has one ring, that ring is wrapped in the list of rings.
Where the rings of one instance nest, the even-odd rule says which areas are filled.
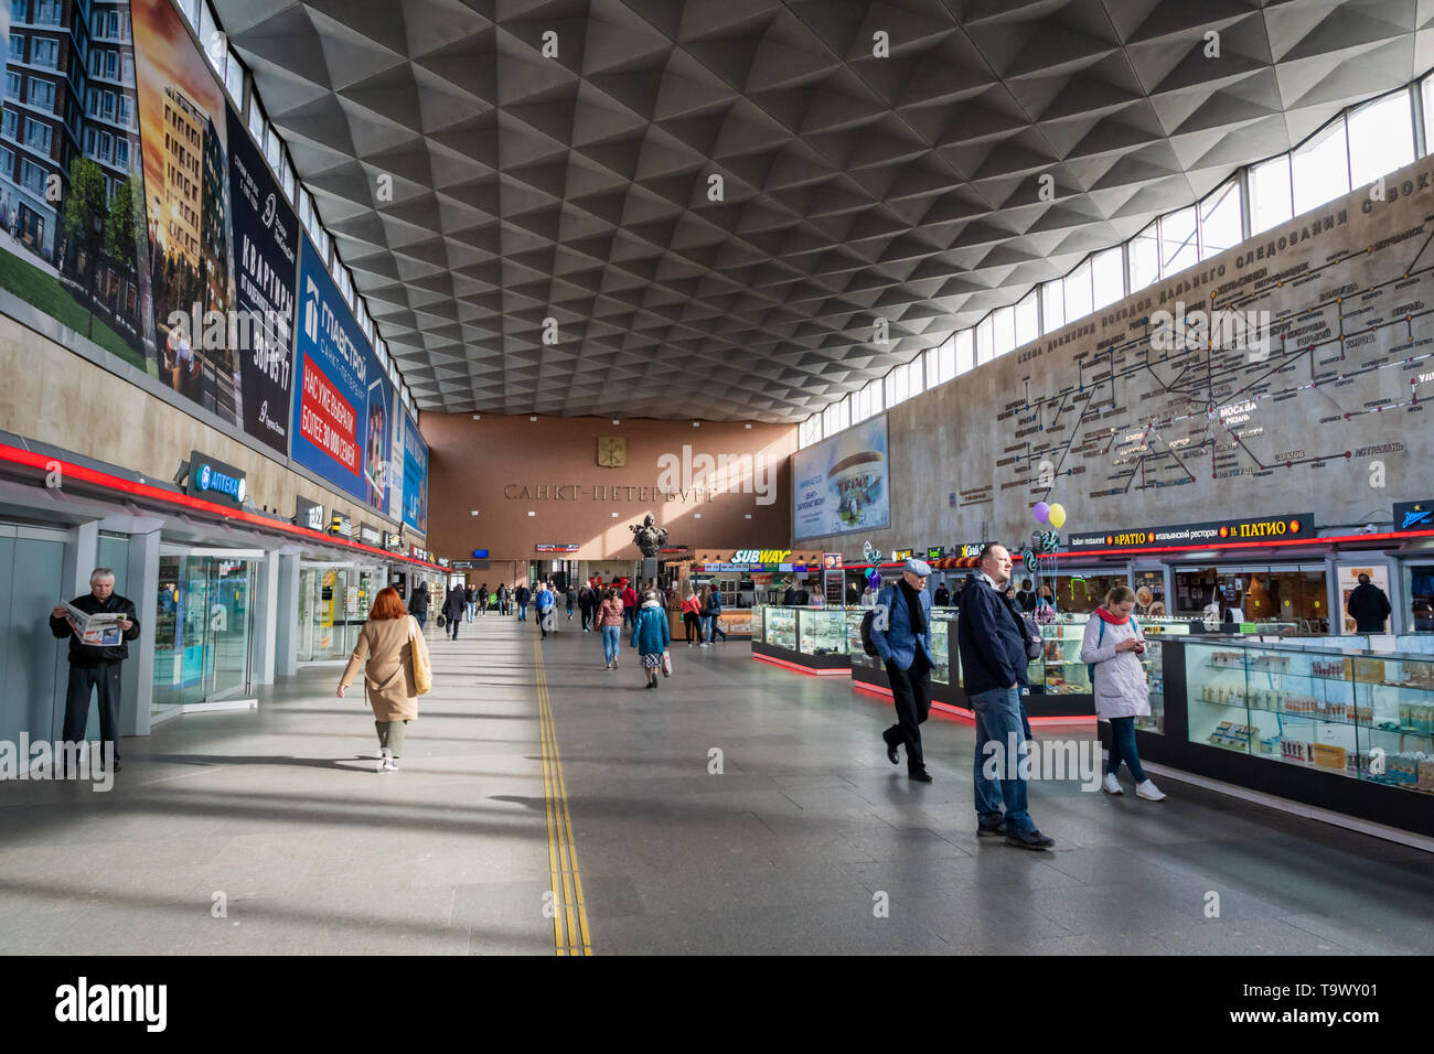
[[[1434,657],[1190,641],[1192,743],[1434,792]]]

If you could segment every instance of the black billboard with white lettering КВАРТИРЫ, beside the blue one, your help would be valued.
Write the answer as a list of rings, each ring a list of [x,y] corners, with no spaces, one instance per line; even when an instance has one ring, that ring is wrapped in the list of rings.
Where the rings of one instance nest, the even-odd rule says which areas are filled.
[[[234,108],[229,122],[229,198],[234,206],[234,298],[245,320],[239,356],[244,430],[288,453],[293,390],[294,278],[298,218]]]

